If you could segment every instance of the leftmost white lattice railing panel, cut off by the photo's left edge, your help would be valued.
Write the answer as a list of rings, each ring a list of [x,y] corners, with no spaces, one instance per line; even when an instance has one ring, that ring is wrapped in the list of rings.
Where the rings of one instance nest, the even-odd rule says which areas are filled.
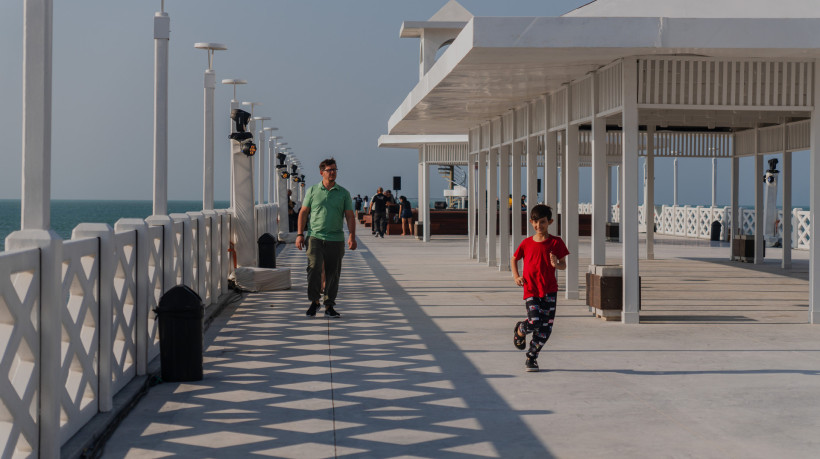
[[[0,253],[2,457],[37,457],[40,387],[40,251]]]

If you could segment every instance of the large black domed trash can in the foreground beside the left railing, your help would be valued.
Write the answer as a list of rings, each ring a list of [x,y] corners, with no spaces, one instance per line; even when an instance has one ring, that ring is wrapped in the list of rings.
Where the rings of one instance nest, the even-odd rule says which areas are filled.
[[[159,319],[163,381],[202,380],[202,317],[205,306],[188,286],[165,292],[154,309]]]

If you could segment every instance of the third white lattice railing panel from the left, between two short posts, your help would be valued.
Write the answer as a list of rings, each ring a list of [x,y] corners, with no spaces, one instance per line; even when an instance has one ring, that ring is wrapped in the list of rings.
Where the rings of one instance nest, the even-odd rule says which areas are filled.
[[[137,374],[137,233],[114,234],[111,387],[116,394]]]

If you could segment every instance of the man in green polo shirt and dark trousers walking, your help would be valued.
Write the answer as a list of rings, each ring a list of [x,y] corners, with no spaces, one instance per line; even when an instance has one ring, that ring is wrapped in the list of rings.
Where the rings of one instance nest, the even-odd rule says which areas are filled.
[[[347,247],[356,250],[356,217],[353,214],[353,200],[350,192],[336,184],[336,160],[326,159],[319,164],[322,182],[308,188],[299,211],[296,248],[307,246],[308,256],[308,307],[305,315],[314,317],[321,305],[322,270],[325,273],[325,317],[341,317],[333,306],[339,291],[339,275],[342,271],[342,257],[345,254],[345,236],[342,222],[347,220],[350,236]],[[305,225],[310,219],[310,235],[305,239]]]

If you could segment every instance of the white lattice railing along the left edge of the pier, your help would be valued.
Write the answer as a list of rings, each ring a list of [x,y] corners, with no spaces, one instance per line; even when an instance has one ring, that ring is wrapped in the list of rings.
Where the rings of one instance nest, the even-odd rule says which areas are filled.
[[[258,230],[276,234],[276,206],[258,206],[257,212]],[[43,442],[65,444],[98,412],[109,411],[114,395],[134,377],[146,374],[159,354],[152,310],[169,286],[191,287],[206,307],[218,302],[233,269],[231,219],[227,210],[212,210],[174,214],[165,223],[122,219],[114,229],[77,226],[72,239],[58,242],[59,317],[40,313],[41,250],[0,252],[0,457],[37,457]],[[41,326],[52,320],[60,324],[52,329],[63,330],[59,368],[40,361]],[[57,390],[60,415],[48,421],[40,417],[40,394]],[[49,422],[55,425],[44,426]]]

